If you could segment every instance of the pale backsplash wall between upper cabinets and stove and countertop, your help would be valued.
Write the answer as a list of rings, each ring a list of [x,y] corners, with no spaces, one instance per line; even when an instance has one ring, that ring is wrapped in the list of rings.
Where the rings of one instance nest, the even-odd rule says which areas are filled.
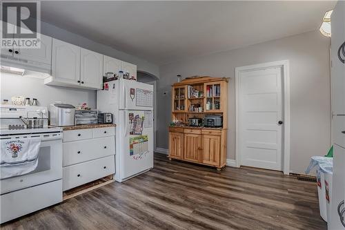
[[[90,108],[96,108],[96,91],[47,86],[43,79],[22,77],[8,73],[0,73],[1,102],[11,101],[12,96],[37,98],[39,106],[48,106],[54,102],[63,102],[78,106],[86,102]]]

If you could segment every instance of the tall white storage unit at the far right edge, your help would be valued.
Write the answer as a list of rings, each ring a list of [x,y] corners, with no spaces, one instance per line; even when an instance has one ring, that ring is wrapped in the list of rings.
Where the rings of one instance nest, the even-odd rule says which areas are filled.
[[[331,18],[331,82],[333,111],[333,182],[331,218],[328,229],[345,229],[340,215],[345,215],[345,1],[338,1]],[[344,222],[344,221],[343,221]]]

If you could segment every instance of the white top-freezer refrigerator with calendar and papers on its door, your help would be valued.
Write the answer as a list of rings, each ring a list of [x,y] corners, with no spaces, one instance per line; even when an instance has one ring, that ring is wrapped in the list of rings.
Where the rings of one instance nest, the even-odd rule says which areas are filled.
[[[97,110],[116,124],[115,180],[123,182],[153,168],[153,86],[118,79],[97,91]]]

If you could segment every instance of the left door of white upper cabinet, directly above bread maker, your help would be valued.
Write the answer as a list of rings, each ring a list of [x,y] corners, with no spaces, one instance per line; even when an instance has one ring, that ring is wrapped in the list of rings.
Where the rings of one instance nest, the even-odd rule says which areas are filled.
[[[57,39],[52,40],[53,82],[61,82],[62,86],[80,86],[80,50],[79,46]]]

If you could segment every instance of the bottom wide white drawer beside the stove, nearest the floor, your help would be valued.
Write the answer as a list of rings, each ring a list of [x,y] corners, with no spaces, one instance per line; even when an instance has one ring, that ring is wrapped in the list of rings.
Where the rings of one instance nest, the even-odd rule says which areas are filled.
[[[99,158],[63,168],[63,191],[115,173],[115,156]]]

